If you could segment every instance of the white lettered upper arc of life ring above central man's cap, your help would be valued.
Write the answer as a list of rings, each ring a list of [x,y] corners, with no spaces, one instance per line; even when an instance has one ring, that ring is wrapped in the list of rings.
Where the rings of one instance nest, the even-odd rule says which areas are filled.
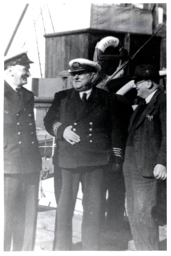
[[[106,36],[102,38],[95,47],[94,55],[93,55],[93,61],[98,62],[99,57],[104,51],[109,47],[112,46],[114,48],[120,47],[120,41],[115,36]]]

